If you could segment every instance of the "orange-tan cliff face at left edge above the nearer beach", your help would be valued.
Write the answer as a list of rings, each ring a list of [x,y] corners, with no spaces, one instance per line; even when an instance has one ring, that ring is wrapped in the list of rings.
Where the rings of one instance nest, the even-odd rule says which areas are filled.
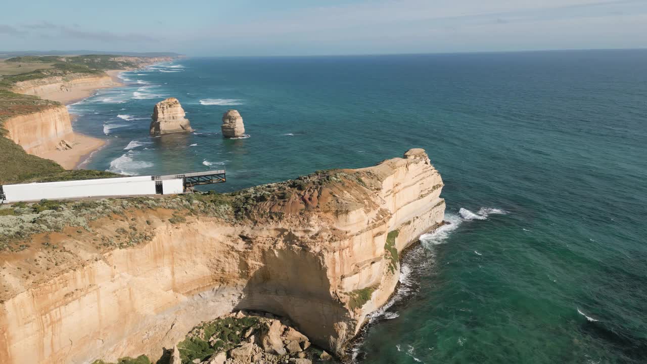
[[[28,154],[42,155],[60,148],[61,141],[74,142],[70,115],[65,106],[20,115],[5,121],[5,135]]]

